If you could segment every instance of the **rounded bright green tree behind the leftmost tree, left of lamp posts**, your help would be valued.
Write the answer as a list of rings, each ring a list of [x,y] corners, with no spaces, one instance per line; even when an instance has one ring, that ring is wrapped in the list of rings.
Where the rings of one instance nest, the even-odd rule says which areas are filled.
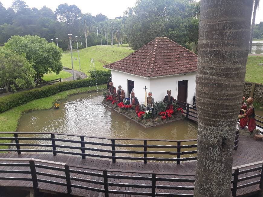
[[[59,74],[63,66],[61,63],[62,50],[54,43],[48,43],[39,36],[12,36],[5,43],[5,47],[14,50],[18,54],[25,54],[27,60],[36,71],[35,78],[53,71]]]

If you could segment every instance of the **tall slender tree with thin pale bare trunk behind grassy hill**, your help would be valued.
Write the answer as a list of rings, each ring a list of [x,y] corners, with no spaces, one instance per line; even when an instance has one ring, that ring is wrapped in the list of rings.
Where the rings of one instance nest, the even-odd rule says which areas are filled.
[[[83,34],[85,35],[86,48],[88,47],[87,36],[89,35],[89,32],[92,30],[93,24],[94,24],[93,17],[89,13],[83,14],[82,17],[80,18],[80,31],[83,32]]]

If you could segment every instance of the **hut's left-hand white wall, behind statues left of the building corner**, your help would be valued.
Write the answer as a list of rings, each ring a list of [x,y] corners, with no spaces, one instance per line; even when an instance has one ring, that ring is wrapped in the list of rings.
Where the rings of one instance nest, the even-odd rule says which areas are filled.
[[[134,81],[134,92],[135,96],[138,98],[138,101],[144,102],[145,99],[145,90],[144,86],[146,86],[147,89],[147,94],[149,91],[149,86],[150,86],[150,80],[147,78],[127,74],[127,73],[122,73],[119,71],[112,70],[112,82],[113,86],[118,89],[118,86],[121,85],[122,89],[125,92],[125,98],[128,97],[128,84],[127,80]]]

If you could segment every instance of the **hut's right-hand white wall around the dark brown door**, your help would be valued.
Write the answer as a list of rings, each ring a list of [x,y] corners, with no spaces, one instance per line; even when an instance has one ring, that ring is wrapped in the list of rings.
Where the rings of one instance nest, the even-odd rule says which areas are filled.
[[[167,90],[171,90],[171,95],[177,99],[178,81],[183,80],[188,80],[187,103],[193,104],[193,96],[195,95],[196,85],[196,73],[150,79],[150,91],[153,92],[152,97],[154,98],[154,101],[163,101],[164,96],[167,95]]]

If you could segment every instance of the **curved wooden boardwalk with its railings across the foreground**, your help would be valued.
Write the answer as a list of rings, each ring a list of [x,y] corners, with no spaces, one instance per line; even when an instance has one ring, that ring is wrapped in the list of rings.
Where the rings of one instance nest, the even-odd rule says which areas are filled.
[[[0,154],[0,187],[18,187],[36,195],[52,192],[72,196],[193,196],[196,140],[14,134],[15,137],[0,137],[15,142],[0,144],[10,146],[0,150],[10,151]],[[232,196],[258,194],[263,189],[263,143],[239,137],[238,131],[236,139]]]

